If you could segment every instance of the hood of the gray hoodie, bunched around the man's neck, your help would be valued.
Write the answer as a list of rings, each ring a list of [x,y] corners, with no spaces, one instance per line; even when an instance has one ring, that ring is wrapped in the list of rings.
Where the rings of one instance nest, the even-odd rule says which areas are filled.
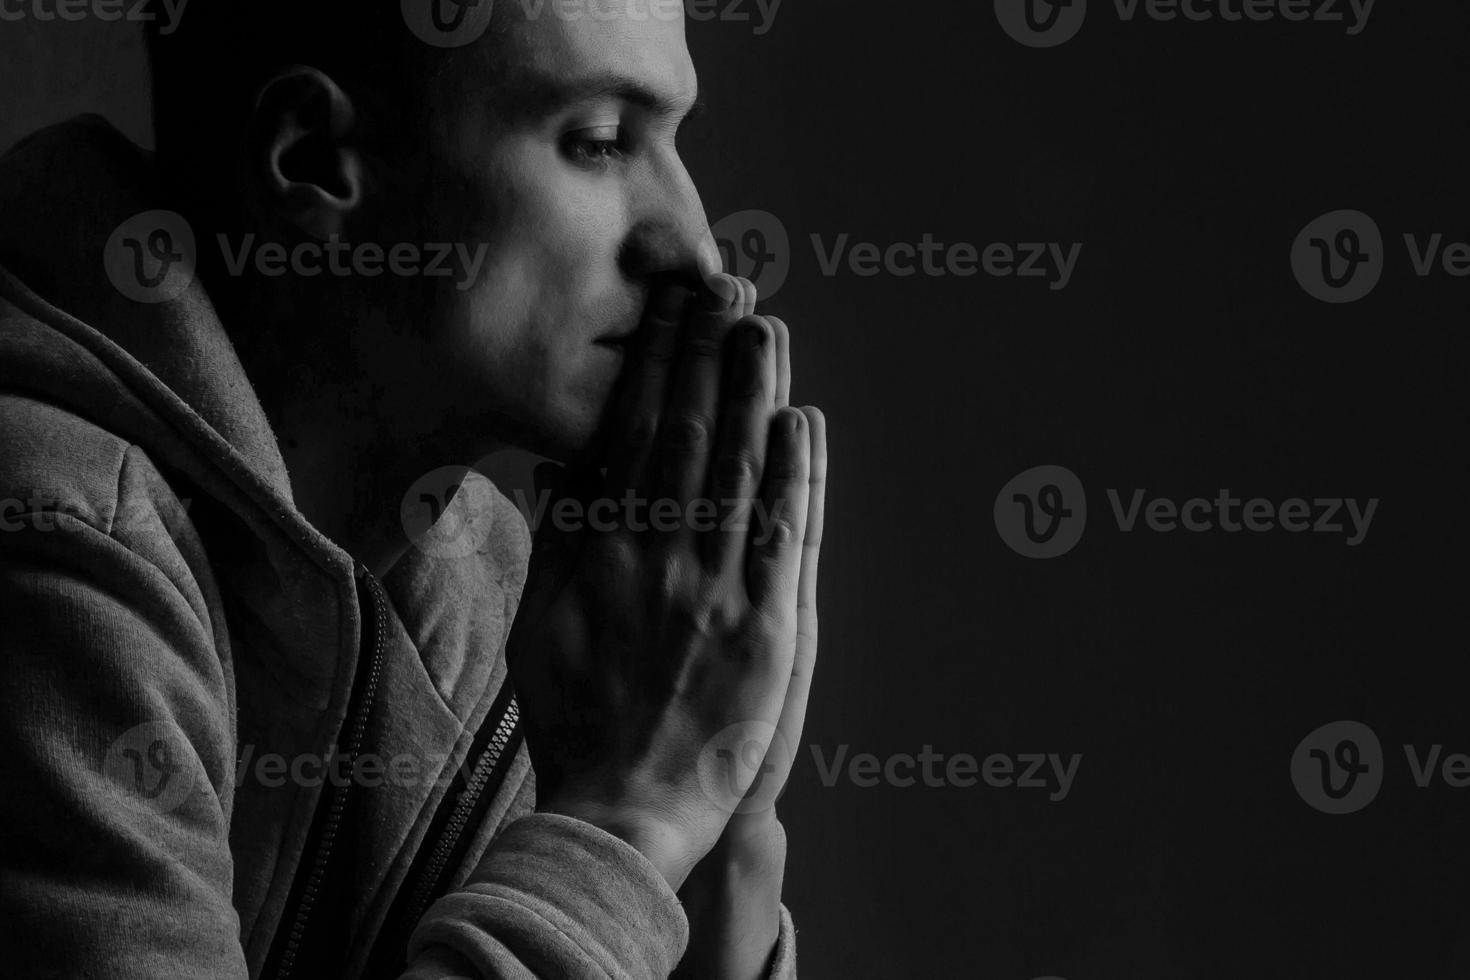
[[[320,633],[323,610],[343,614],[335,639],[281,635],[278,648],[351,645],[354,561],[297,511],[275,432],[203,285],[140,303],[109,278],[113,232],[165,197],[151,154],[100,116],[43,129],[0,157],[0,295],[29,314],[0,329],[0,386],[96,422],[228,507],[262,547],[268,569],[248,588],[270,617]],[[410,632],[475,633],[476,604],[456,597],[519,592],[525,520],[490,483],[473,492],[494,498],[478,555],[410,548],[384,580]],[[287,592],[290,608],[279,608]],[[497,617],[492,632],[504,626]],[[282,667],[315,680],[337,673]]]

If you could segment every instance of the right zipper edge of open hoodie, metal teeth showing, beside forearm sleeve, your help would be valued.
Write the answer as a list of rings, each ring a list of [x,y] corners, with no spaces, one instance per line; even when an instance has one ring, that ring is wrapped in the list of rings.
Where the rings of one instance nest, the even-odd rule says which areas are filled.
[[[409,936],[429,905],[444,893],[450,873],[469,851],[473,830],[504,782],[523,735],[520,705],[507,679],[475,735],[465,765],[429,821],[425,843],[378,930],[363,977],[397,977],[407,968]]]

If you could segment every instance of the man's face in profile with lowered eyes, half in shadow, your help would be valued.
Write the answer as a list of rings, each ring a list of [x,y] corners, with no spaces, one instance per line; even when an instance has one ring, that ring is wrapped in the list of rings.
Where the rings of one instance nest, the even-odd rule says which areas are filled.
[[[650,285],[719,267],[675,148],[697,79],[678,4],[638,18],[592,3],[575,19],[501,6],[498,37],[457,53],[429,93],[420,220],[485,250],[472,282],[435,287],[416,414],[564,458],[597,432]]]

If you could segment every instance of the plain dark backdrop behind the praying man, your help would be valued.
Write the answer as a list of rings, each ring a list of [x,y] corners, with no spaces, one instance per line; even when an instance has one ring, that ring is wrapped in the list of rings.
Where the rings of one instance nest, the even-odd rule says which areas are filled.
[[[691,26],[713,109],[691,169],[711,219],[788,229],[770,311],[832,428],[806,742],[1083,757],[1050,802],[825,788],[803,746],[782,813],[806,980],[1470,976],[1470,789],[1416,788],[1402,751],[1470,751],[1470,279],[1420,279],[1402,245],[1470,241],[1467,40],[1466,4],[1427,1],[1379,3],[1348,37],[1123,24],[1094,0],[1050,50],[978,0]],[[6,24],[0,44],[0,143],[81,109],[147,141],[134,29]],[[1348,207],[1388,269],[1329,306],[1288,253]],[[1083,250],[1063,291],[825,278],[808,237],[842,232]],[[1050,561],[991,517],[1038,464],[1089,494],[1080,545]],[[1120,533],[1105,488],[1380,504],[1349,548]],[[1377,732],[1386,776],[1333,817],[1289,760],[1339,718]]]

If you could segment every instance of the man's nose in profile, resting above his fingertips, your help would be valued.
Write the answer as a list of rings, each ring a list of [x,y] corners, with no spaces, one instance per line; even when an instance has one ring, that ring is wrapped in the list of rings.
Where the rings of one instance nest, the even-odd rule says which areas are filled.
[[[700,192],[676,160],[650,178],[634,201],[623,275],[642,285],[672,281],[695,289],[722,264]]]

